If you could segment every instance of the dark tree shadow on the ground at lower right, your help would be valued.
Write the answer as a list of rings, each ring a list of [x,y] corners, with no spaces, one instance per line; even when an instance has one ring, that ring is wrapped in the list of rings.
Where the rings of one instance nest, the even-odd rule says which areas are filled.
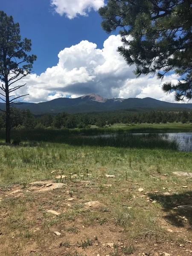
[[[192,191],[173,195],[149,193],[148,196],[162,205],[164,212],[166,212],[164,218],[168,223],[177,227],[184,227],[187,219],[190,227],[192,227],[192,209],[182,209],[183,206],[192,206]]]

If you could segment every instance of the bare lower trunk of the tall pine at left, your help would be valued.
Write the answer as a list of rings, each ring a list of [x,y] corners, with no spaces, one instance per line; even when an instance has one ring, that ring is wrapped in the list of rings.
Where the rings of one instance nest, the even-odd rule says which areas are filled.
[[[6,87],[6,143],[11,143],[11,122],[10,122],[10,102],[9,102],[9,84],[5,81]]]

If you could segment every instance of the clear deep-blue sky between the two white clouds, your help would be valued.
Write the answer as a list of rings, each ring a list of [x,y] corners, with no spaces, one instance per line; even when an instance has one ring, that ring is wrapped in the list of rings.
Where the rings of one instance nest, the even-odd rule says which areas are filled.
[[[57,55],[65,47],[88,40],[102,49],[108,38],[95,11],[89,17],[69,19],[55,13],[50,0],[3,0],[0,8],[20,23],[22,37],[32,40],[32,53],[38,56],[33,69],[38,75],[58,63]]]

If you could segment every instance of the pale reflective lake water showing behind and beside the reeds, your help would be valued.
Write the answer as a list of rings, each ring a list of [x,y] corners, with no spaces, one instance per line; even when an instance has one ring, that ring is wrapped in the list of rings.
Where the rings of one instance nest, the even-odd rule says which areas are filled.
[[[134,133],[142,134],[142,133]],[[148,133],[143,133],[148,134]],[[159,133],[159,135],[165,140],[176,140],[179,145],[180,151],[189,151],[192,152],[192,132],[177,132],[177,133]],[[115,134],[102,134],[102,135],[93,135],[92,137],[111,137]]]

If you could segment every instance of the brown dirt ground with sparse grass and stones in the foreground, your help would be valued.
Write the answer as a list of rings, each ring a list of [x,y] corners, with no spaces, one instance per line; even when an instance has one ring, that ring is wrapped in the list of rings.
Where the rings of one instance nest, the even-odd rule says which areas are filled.
[[[96,182],[78,178],[63,183],[45,180],[1,189],[0,255],[192,255],[191,213],[174,215],[174,208],[182,202],[176,199],[170,213],[156,206],[157,198],[153,197],[158,191],[142,190],[138,183],[129,180],[120,184],[111,177],[107,181],[101,185],[99,178]],[[121,206],[130,210],[135,207],[144,215],[154,207],[159,212],[155,225],[164,231],[145,232],[142,221],[146,220],[142,218],[140,230],[134,220],[127,227],[122,217],[118,219],[118,197]],[[114,208],[120,213],[114,215]]]

